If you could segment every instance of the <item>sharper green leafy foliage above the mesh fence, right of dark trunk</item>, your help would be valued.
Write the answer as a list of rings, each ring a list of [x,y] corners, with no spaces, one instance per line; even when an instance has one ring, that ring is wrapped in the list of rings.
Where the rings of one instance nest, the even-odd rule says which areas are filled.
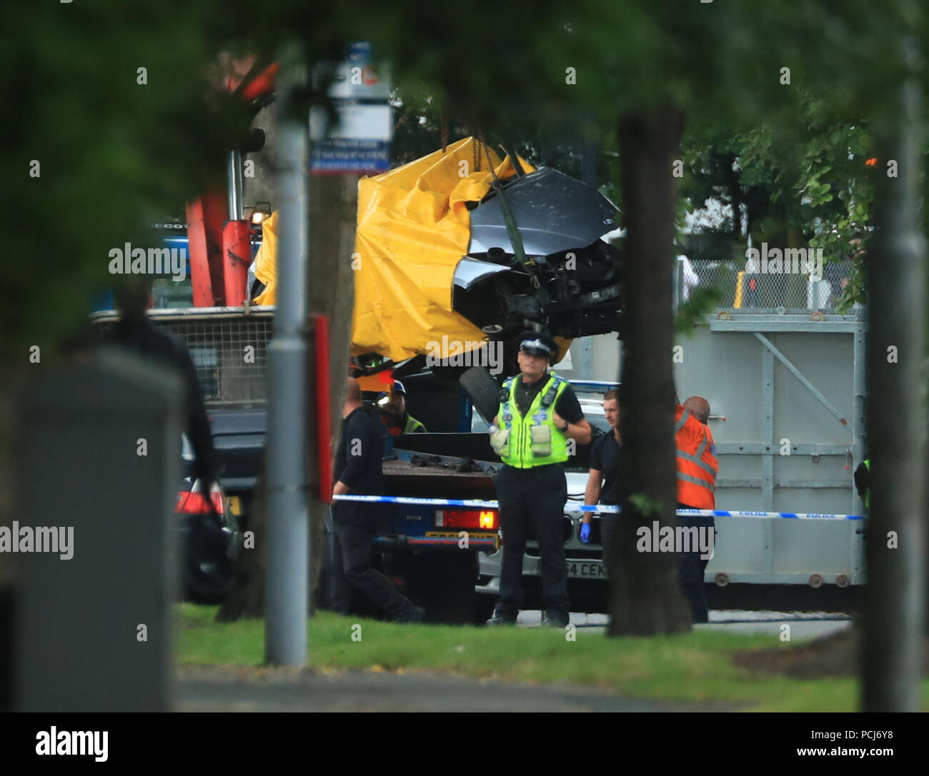
[[[718,123],[685,139],[687,175],[681,209],[700,210],[710,198],[739,213],[719,229],[744,246],[743,218],[755,243],[822,248],[826,263],[854,259],[844,304],[863,300],[858,278],[872,228],[873,176],[878,166],[864,119],[829,115],[797,90],[802,118],[787,136],[766,125],[733,133]],[[712,229],[708,229],[712,231]]]

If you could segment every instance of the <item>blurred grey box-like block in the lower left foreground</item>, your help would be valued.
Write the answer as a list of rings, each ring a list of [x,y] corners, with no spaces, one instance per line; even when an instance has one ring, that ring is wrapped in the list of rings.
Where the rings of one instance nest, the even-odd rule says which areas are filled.
[[[100,349],[25,399],[16,709],[169,709],[182,395],[168,369]]]

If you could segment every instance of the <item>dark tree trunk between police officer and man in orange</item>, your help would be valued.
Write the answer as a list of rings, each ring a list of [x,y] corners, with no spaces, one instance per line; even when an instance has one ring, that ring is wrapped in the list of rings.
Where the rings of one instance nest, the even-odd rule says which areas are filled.
[[[627,116],[620,124],[626,226],[622,357],[622,472],[641,509],[626,504],[612,542],[609,636],[676,633],[690,609],[673,552],[636,551],[636,529],[674,514],[672,162],[684,128],[680,110]]]

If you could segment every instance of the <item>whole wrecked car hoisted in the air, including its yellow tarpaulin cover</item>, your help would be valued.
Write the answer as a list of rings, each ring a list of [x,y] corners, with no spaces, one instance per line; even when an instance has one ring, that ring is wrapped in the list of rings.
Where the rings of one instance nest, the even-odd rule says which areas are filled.
[[[619,330],[621,253],[602,239],[617,217],[595,188],[471,137],[361,178],[352,355],[397,364],[443,339],[468,352],[533,327],[563,340]],[[275,229],[276,213],[250,273],[255,304],[276,302]]]

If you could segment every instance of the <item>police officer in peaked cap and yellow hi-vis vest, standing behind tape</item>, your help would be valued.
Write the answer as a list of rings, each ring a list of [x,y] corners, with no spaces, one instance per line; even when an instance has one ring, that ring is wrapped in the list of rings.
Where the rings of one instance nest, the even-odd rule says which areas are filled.
[[[491,426],[491,446],[504,462],[496,476],[503,529],[500,600],[488,625],[511,625],[522,606],[523,551],[530,534],[539,543],[543,624],[565,627],[569,620],[568,570],[562,515],[568,484],[562,463],[568,440],[590,441],[569,383],[550,373],[557,344],[547,334],[525,331],[519,337],[519,374],[504,382],[500,407]]]

